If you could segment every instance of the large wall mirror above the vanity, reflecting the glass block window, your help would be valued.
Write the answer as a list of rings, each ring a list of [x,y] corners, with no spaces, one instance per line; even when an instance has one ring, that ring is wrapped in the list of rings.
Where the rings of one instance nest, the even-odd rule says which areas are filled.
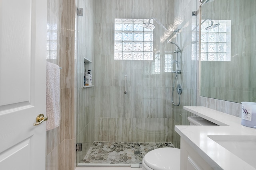
[[[201,6],[200,96],[256,102],[255,9],[255,0],[206,0]]]

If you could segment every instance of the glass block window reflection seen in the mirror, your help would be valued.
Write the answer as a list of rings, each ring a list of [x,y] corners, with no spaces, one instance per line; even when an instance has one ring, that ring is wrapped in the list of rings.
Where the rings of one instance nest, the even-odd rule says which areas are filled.
[[[211,22],[206,21],[201,25],[201,61],[230,61],[231,20],[212,21],[220,25],[208,30],[205,28],[210,26]]]

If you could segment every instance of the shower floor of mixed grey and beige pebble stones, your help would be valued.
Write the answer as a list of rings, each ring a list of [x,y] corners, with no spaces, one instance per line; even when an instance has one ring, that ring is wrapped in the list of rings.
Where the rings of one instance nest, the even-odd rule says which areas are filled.
[[[81,163],[138,164],[150,150],[172,147],[172,143],[94,142]]]

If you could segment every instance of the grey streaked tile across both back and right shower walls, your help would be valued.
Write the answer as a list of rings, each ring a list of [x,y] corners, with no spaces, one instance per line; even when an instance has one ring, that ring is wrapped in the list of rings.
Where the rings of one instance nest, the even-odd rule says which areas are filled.
[[[191,14],[196,0],[96,0],[95,4],[95,141],[171,141],[179,147],[174,125],[188,124],[190,114],[183,106],[196,104],[196,61],[191,59]],[[114,19],[152,17],[165,27],[181,24],[182,74],[178,77],[183,93],[178,107],[171,102],[174,74],[152,74],[154,61],[114,60]],[[174,45],[160,42],[164,30],[155,25],[154,51],[160,51],[164,62],[164,51],[173,51]]]

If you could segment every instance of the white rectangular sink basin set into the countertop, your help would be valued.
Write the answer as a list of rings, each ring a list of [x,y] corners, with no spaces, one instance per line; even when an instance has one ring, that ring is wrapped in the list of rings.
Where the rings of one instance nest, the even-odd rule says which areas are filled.
[[[208,135],[208,137],[256,168],[256,136]]]

